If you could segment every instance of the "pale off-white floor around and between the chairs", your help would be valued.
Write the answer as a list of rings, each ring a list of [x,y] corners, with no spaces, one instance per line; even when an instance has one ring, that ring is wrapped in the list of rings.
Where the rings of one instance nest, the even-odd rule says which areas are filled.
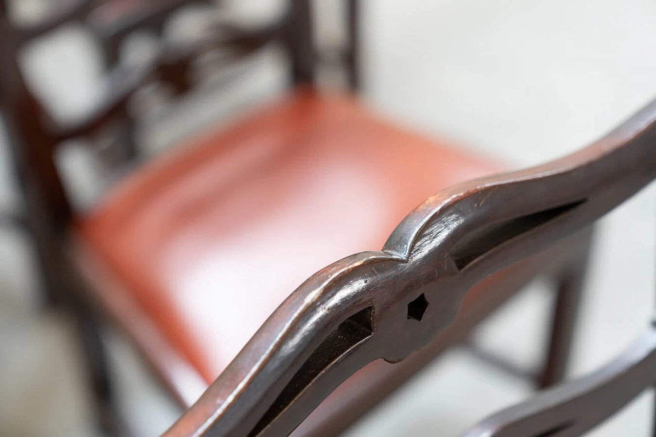
[[[656,3],[650,0],[370,0],[366,12],[371,106],[512,167],[575,150],[656,95]],[[63,35],[55,46],[41,48],[45,60],[35,62],[35,80],[49,77],[49,85],[63,89],[50,97],[73,113],[94,96],[85,79],[89,68],[79,60],[88,47],[75,35]],[[222,102],[233,100],[230,94]],[[197,123],[184,121],[192,115],[207,121],[220,114],[213,105],[208,96],[187,102],[174,114],[182,119],[176,133],[165,130],[165,139],[151,141],[181,135]],[[0,160],[0,204],[12,204],[4,148]],[[75,153],[68,161],[80,169],[86,162]],[[571,375],[604,364],[649,322],[655,199],[656,190],[647,188],[600,223]],[[72,329],[39,310],[28,255],[24,236],[0,230],[0,436],[94,435]],[[535,362],[547,303],[537,284],[487,323],[481,340],[524,364]],[[129,347],[115,337],[108,341],[129,421],[137,435],[157,435],[176,411]],[[349,436],[457,436],[529,393],[527,385],[455,350]],[[592,435],[647,436],[650,399],[642,396]]]

